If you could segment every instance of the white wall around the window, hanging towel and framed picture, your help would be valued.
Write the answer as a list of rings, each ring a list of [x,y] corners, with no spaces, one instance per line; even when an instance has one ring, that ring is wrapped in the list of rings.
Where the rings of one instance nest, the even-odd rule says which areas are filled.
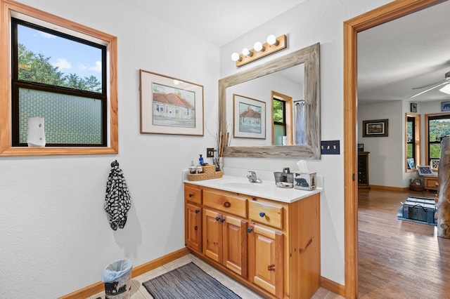
[[[184,247],[181,169],[215,144],[219,48],[122,1],[20,2],[118,38],[119,154],[0,158],[0,297],[56,298],[100,281],[113,260],[137,266]],[[204,137],[139,133],[139,69],[205,87]],[[103,211],[115,159],[132,199],[116,232]]]

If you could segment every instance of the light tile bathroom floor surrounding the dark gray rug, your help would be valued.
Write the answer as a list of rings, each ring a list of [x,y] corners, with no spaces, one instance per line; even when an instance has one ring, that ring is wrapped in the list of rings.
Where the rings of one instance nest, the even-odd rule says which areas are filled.
[[[144,281],[148,281],[149,279],[158,277],[161,274],[164,274],[165,272],[169,272],[170,270],[174,270],[177,267],[181,267],[182,265],[186,265],[191,262],[195,263],[195,265],[198,265],[198,267],[202,268],[205,272],[207,272],[207,274],[210,274],[212,277],[220,281],[221,284],[224,284],[224,286],[231,289],[234,293],[240,295],[240,297],[242,297],[243,299],[263,298],[254,293],[253,291],[250,291],[250,289],[245,288],[245,286],[243,286],[242,284],[239,284],[233,279],[227,277],[225,274],[222,274],[221,272],[219,272],[219,270],[216,270],[214,267],[203,262],[203,260],[200,260],[194,255],[189,254],[177,260],[174,260],[170,263],[162,265],[161,267],[158,267],[154,270],[151,270],[150,272],[146,272],[138,277],[134,277],[133,279],[131,279],[132,282],[131,299],[153,299],[153,297],[148,293],[146,288],[142,286],[142,283]],[[98,299],[98,298],[105,299],[105,292],[98,293],[86,299]],[[314,294],[313,298],[338,299],[343,297],[341,297],[340,295],[336,295],[335,293],[331,293],[325,288],[319,288],[316,294]]]

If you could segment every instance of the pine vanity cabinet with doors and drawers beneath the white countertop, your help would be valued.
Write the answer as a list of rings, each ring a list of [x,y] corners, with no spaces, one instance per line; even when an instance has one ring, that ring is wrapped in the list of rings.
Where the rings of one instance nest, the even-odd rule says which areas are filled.
[[[311,298],[321,281],[320,194],[291,203],[185,183],[192,253],[265,298]]]

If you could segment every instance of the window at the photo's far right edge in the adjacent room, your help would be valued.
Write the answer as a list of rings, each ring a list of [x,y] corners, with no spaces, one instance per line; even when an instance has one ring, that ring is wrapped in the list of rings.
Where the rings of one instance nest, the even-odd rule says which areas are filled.
[[[426,165],[431,166],[432,160],[441,157],[441,140],[450,137],[450,114],[425,114],[425,144]]]

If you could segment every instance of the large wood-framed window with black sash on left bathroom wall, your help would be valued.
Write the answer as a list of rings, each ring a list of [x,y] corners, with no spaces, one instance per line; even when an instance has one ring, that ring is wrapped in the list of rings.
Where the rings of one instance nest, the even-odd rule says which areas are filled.
[[[0,109],[11,113],[0,122],[11,129],[0,154],[117,153],[116,38],[27,6],[8,3],[6,11],[1,32],[11,52],[2,48],[0,59],[11,81],[0,70],[9,94]],[[45,147],[28,147],[30,117],[44,118]]]

